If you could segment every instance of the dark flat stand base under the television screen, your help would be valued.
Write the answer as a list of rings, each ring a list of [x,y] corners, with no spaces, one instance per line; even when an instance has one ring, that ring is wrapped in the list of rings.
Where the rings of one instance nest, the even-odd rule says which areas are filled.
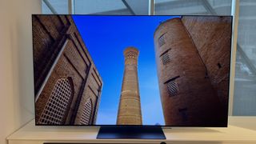
[[[166,139],[161,126],[102,126],[97,139]]]

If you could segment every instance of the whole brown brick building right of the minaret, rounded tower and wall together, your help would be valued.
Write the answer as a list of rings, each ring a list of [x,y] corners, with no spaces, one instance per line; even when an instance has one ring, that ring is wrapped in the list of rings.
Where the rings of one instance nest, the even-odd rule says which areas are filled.
[[[154,33],[166,125],[226,126],[230,17],[183,16]]]

